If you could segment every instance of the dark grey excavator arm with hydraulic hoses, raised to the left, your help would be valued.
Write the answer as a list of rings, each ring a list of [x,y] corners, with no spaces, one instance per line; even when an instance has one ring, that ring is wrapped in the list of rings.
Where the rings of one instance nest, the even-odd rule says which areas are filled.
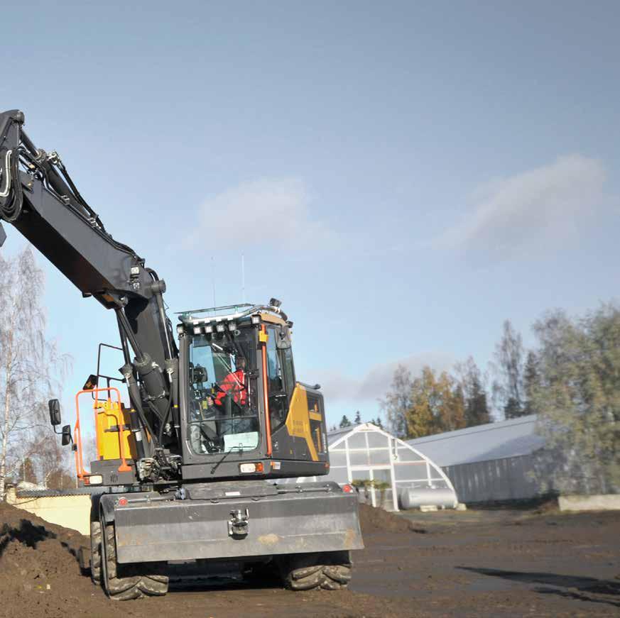
[[[4,220],[83,296],[115,312],[131,404],[153,437],[150,448],[158,448],[178,399],[178,351],[163,304],[165,282],[112,237],[58,154],[36,148],[23,125],[21,111],[0,114],[0,245]]]

